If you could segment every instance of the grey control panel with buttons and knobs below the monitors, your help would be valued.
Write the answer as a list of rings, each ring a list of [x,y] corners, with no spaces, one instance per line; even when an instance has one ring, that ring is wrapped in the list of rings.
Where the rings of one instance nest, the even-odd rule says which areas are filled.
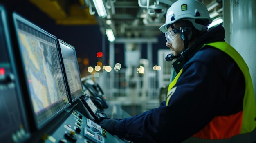
[[[78,110],[70,112],[58,129],[46,135],[44,143],[128,143],[108,133]]]

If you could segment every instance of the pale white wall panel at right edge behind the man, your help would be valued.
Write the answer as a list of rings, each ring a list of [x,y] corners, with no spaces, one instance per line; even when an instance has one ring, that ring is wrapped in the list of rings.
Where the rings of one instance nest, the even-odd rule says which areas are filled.
[[[245,59],[256,92],[256,0],[230,1],[230,44]]]

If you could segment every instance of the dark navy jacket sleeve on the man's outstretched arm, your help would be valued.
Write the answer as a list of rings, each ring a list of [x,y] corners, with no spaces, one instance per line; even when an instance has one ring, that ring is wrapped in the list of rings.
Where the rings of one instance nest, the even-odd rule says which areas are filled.
[[[210,68],[202,62],[186,64],[168,106],[163,102],[159,108],[122,119],[115,125],[117,135],[135,143],[178,143],[200,131],[221,102],[216,97],[219,79]]]

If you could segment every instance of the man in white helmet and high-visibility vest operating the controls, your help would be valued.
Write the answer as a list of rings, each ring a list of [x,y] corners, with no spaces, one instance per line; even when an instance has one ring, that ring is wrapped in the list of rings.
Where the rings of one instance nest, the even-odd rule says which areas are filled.
[[[177,76],[159,108],[99,123],[135,143],[252,143],[256,104],[242,57],[224,42],[225,31],[197,0],[179,0],[168,9],[160,30],[166,35]],[[212,142],[213,141],[213,142]],[[224,141],[224,142],[223,142]]]

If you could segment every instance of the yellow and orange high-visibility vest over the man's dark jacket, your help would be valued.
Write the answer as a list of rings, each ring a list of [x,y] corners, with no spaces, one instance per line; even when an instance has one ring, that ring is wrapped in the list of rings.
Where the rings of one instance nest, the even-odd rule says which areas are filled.
[[[205,128],[194,134],[193,137],[184,141],[184,143],[252,143],[256,141],[256,130],[254,130],[256,128],[256,103],[252,79],[247,64],[240,54],[227,42],[213,42],[210,44],[204,44],[204,46],[205,45],[213,46],[227,53],[232,59],[234,59],[242,71],[245,77],[243,110],[229,116],[214,117]],[[168,87],[166,106],[168,106],[168,102],[171,99],[171,89],[175,86],[182,71],[183,69],[180,70]],[[237,124],[234,126],[238,127],[239,130],[221,129],[221,125],[225,126],[228,124],[229,119],[236,119]]]

